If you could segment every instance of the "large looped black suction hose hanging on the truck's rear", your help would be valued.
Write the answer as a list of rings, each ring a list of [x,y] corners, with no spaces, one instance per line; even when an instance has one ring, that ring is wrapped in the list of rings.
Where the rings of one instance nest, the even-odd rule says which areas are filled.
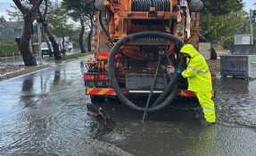
[[[172,40],[178,46],[178,48],[181,48],[184,45],[184,43],[182,41],[180,41],[174,35],[164,33],[164,32],[160,32],[160,31],[145,31],[145,32],[139,32],[139,33],[135,33],[135,34],[132,34],[132,35],[125,36],[118,43],[116,43],[115,46],[111,49],[110,57],[108,59],[108,71],[109,71],[109,76],[111,77],[112,88],[115,90],[118,98],[120,99],[120,101],[123,104],[128,105],[129,107],[131,107],[131,108],[133,108],[133,109],[135,109],[136,111],[139,111],[139,112],[145,111],[145,107],[141,107],[141,106],[133,104],[121,92],[120,86],[117,82],[117,78],[116,78],[115,72],[114,72],[114,58],[115,58],[116,54],[118,53],[118,51],[120,50],[120,47],[124,43],[127,43],[128,41],[135,40],[136,38],[142,38],[142,37],[160,37],[160,38],[165,38],[167,40]],[[181,57],[179,59],[178,67],[183,66],[183,64],[184,64],[184,59]],[[169,82],[169,83],[172,83],[172,84],[169,84],[169,85],[177,84],[177,80],[178,80],[178,74],[174,74],[172,80]],[[159,105],[156,105],[154,107],[148,108],[147,112],[149,112],[149,113],[155,112],[155,111],[158,111],[161,108],[164,108],[165,106],[169,105],[171,103],[171,101],[173,100],[173,98],[175,98],[177,88],[175,88],[175,89],[176,90],[172,90],[169,97],[166,98],[162,103],[160,103]]]

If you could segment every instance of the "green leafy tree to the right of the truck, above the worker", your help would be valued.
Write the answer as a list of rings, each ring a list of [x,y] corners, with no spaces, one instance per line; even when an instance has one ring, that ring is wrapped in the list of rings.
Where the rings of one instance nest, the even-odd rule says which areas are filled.
[[[246,13],[242,0],[204,0],[200,33],[211,42],[221,42],[227,36],[244,33]]]

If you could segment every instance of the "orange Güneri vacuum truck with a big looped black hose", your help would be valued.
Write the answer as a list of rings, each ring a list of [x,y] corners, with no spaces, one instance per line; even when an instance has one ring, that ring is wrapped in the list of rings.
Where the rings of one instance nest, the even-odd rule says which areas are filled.
[[[167,66],[186,68],[184,43],[199,50],[202,8],[201,0],[95,0],[95,58],[84,74],[92,103],[117,98],[155,112],[174,98],[194,98],[186,79]]]

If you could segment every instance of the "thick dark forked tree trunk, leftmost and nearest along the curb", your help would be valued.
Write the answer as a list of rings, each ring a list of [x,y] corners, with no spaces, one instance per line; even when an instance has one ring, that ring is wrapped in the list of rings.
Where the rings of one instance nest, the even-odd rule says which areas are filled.
[[[24,20],[24,28],[23,34],[21,35],[21,41],[19,50],[21,51],[21,55],[24,61],[25,66],[35,66],[37,65],[37,60],[33,56],[32,52],[29,49],[29,41],[31,37],[31,25],[33,21],[37,18],[37,9],[39,8],[40,4],[42,4],[43,0],[29,0],[34,1],[36,3],[32,4],[29,8],[24,4],[21,4],[22,0],[12,0],[13,3],[17,6],[17,8],[21,11]]]

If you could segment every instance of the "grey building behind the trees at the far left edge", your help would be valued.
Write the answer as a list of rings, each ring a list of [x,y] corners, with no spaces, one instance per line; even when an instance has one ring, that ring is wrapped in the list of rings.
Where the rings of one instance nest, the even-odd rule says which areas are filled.
[[[0,38],[13,37],[21,38],[24,21],[0,22]]]

